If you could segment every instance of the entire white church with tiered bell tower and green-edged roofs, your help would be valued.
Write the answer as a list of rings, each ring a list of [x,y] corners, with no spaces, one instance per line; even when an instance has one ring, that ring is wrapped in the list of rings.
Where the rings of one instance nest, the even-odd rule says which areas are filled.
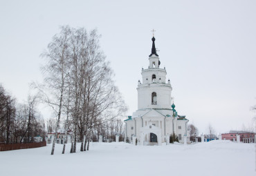
[[[156,53],[155,38],[152,38],[152,53],[149,67],[143,69],[143,81],[138,81],[138,110],[125,120],[126,139],[136,138],[140,145],[161,145],[175,133],[179,142],[189,141],[188,119],[180,116],[172,104],[172,86],[166,82],[167,72],[160,68]]]

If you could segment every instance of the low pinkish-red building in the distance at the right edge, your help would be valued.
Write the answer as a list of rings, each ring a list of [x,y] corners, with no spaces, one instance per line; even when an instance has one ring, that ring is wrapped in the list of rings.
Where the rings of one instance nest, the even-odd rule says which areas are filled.
[[[229,133],[221,134],[221,139],[237,141],[237,135],[240,135],[240,142],[255,143],[256,133],[251,133],[251,132],[247,132],[247,131],[230,130]]]

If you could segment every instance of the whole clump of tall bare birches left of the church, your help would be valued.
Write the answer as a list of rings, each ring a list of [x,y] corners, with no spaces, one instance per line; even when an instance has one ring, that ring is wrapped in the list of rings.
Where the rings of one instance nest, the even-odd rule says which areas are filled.
[[[75,153],[78,139],[80,151],[84,151],[86,141],[89,145],[96,134],[113,137],[114,134],[102,129],[113,128],[111,123],[116,123],[127,110],[99,39],[97,30],[87,32],[84,28],[62,26],[42,53],[46,62],[42,67],[44,82],[33,86],[39,99],[51,107],[56,119],[51,155],[61,122],[66,133],[73,132],[71,153]],[[62,153],[64,150],[65,145]]]

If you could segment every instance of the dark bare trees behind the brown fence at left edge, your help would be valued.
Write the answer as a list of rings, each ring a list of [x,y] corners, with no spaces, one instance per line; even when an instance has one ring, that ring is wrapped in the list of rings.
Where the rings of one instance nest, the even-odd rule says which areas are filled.
[[[37,97],[18,104],[0,84],[0,143],[33,143],[45,139],[45,123],[37,110]]]

